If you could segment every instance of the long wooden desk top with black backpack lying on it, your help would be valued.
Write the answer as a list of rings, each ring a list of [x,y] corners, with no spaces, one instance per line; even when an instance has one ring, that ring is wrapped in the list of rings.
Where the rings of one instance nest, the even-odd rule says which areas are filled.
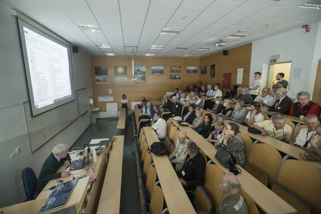
[[[159,141],[152,127],[144,127],[144,132],[149,147],[152,143]],[[151,155],[169,212],[171,214],[196,214],[168,157],[157,156],[153,153]]]

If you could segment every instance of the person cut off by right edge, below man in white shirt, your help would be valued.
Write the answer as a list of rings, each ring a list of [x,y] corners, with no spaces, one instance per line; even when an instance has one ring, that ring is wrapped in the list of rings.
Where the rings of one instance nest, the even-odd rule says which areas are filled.
[[[300,153],[302,160],[321,162],[321,124],[316,127],[316,134],[310,139],[311,147]]]

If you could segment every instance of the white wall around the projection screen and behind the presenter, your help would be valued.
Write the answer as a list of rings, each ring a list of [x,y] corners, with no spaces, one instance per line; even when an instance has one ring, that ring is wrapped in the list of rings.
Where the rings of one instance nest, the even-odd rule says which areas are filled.
[[[53,146],[57,143],[71,146],[90,124],[89,114],[78,118],[31,154],[22,106],[29,96],[20,46],[17,18],[0,2],[0,207],[25,200],[24,188],[19,186],[25,167],[33,168],[38,176]],[[75,90],[88,88],[91,96],[89,54],[79,49],[78,54],[72,54],[72,66]],[[21,147],[21,152],[9,159],[9,153],[17,146]]]

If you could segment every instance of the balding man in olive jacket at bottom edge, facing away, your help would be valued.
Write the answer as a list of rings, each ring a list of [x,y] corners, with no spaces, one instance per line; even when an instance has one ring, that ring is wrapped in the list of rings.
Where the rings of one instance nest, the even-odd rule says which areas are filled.
[[[238,194],[241,184],[232,173],[224,174],[220,180],[224,198],[216,214],[249,214],[249,208],[244,198]],[[196,214],[207,214],[197,212]]]

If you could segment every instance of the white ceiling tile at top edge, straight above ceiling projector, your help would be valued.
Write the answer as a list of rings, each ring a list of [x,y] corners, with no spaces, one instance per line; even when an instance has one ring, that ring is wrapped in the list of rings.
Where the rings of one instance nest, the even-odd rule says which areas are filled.
[[[213,14],[228,14],[242,3],[242,1],[215,0],[213,4],[211,4],[204,12]]]

